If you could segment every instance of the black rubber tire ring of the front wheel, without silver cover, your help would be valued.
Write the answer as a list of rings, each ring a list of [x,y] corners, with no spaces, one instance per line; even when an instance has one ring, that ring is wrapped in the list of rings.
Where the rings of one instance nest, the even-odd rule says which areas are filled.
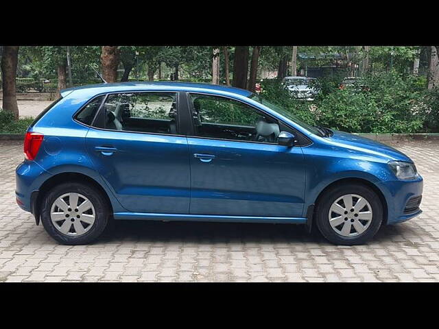
[[[341,236],[340,234],[337,234],[329,224],[329,208],[331,208],[331,205],[335,200],[346,194],[360,195],[361,197],[364,197],[372,207],[372,223],[370,223],[370,226],[365,232],[358,236]],[[381,223],[383,222],[383,205],[381,204],[381,200],[377,193],[372,191],[371,188],[357,184],[342,184],[330,188],[324,193],[324,195],[322,195],[316,208],[316,222],[322,235],[332,243],[337,245],[363,244],[366,243],[366,241],[370,241],[381,227]]]

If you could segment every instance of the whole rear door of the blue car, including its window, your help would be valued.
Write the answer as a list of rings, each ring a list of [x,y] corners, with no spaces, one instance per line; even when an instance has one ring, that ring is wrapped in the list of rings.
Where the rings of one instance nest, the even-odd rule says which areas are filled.
[[[88,131],[95,168],[131,212],[189,212],[189,153],[177,104],[177,93],[109,94]]]

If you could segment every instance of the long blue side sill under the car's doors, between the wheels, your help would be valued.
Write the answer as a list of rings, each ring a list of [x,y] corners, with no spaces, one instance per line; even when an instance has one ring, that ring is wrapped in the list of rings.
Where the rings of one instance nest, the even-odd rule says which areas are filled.
[[[150,212],[115,212],[115,219],[140,219],[154,221],[219,221],[237,223],[291,223],[305,224],[302,217],[256,217],[256,216],[221,216],[221,215],[187,215],[159,214]]]

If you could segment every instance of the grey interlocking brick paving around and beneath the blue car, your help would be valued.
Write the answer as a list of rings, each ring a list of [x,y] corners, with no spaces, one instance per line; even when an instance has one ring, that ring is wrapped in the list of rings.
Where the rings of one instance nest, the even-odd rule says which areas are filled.
[[[0,282],[439,281],[439,143],[393,144],[425,179],[420,217],[367,245],[334,246],[301,226],[123,221],[93,245],[58,245],[15,204],[22,144],[0,142]]]

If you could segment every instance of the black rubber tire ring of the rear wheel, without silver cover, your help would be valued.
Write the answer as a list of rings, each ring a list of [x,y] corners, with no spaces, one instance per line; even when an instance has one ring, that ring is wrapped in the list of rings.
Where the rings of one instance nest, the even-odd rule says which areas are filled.
[[[95,223],[90,230],[81,236],[68,236],[62,234],[52,223],[50,218],[51,205],[54,201],[66,193],[80,193],[87,197],[95,208]],[[97,239],[104,232],[108,224],[109,206],[100,191],[87,184],[67,182],[51,188],[43,197],[43,207],[41,210],[41,222],[47,233],[59,243],[64,245],[83,245]]]

